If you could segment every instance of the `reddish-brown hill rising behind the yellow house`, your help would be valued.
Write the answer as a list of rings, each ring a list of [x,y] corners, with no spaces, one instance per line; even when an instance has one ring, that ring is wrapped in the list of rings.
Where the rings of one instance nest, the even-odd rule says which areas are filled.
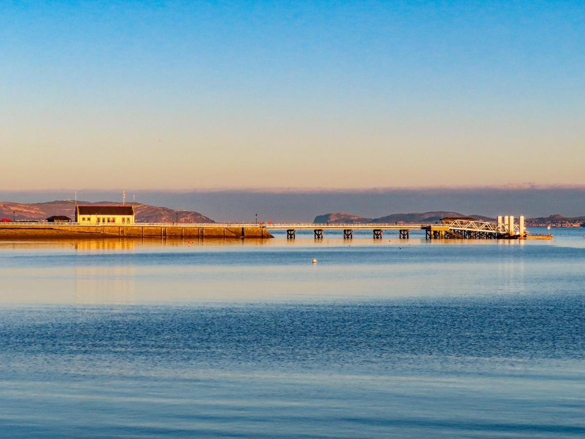
[[[77,204],[93,205],[120,205],[113,201],[99,201],[90,203],[89,201],[78,201]],[[151,206],[147,204],[135,203],[136,221],[140,222],[175,222],[177,214],[173,209],[168,207]],[[31,219],[34,221],[49,218],[53,215],[64,215],[69,218],[75,218],[75,201],[73,200],[56,200],[47,203],[11,203],[9,201],[0,201],[0,218]],[[199,212],[185,211],[178,212],[178,222],[184,224],[192,223],[211,223],[215,222],[211,218],[200,214]]]

